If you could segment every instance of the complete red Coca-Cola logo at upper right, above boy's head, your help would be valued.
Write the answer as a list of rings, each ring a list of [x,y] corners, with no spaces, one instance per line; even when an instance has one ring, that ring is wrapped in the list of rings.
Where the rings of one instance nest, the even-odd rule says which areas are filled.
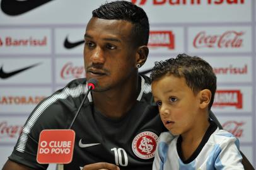
[[[243,46],[243,31],[225,31],[221,35],[207,35],[201,31],[195,35],[193,46],[195,48],[240,48]]]

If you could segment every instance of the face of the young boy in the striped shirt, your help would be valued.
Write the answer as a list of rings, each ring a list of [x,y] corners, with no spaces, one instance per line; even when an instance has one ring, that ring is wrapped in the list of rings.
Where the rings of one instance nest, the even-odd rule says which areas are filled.
[[[173,135],[185,134],[195,129],[200,115],[199,93],[195,95],[184,77],[163,76],[152,82],[154,101],[161,120]]]

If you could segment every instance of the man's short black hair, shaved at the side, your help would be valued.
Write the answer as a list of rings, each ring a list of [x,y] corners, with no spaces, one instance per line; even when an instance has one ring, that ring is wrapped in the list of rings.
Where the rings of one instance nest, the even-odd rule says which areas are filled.
[[[142,8],[128,1],[113,1],[105,3],[100,8],[93,10],[93,17],[104,20],[125,20],[131,22],[134,45],[148,45],[149,21]]]

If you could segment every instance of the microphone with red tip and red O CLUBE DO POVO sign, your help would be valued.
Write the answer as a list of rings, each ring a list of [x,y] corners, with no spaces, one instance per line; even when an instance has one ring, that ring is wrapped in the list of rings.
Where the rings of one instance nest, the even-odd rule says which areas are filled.
[[[88,81],[88,91],[68,129],[47,129],[40,132],[37,149],[37,162],[39,164],[68,164],[72,161],[75,132],[71,130],[71,127],[88,94],[91,90],[95,89],[97,83],[98,81],[96,79],[90,79]]]

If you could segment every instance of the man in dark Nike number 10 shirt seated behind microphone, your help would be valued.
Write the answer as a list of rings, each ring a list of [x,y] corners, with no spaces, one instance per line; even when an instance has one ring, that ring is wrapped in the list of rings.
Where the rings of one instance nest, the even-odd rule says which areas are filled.
[[[151,105],[150,79],[138,74],[148,57],[148,37],[146,13],[130,2],[93,11],[84,34],[86,79],[70,82],[32,111],[3,169],[47,169],[36,161],[39,134],[71,125],[92,78],[98,83],[72,125],[73,161],[64,169],[151,169],[165,128]]]

